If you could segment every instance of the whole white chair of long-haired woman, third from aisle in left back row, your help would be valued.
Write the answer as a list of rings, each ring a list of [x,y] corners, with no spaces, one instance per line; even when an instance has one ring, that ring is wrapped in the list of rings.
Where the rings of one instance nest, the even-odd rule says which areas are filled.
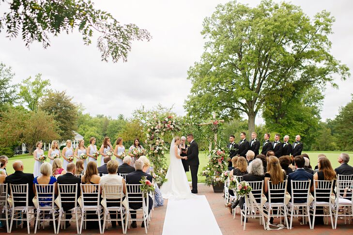
[[[99,232],[102,234],[101,219],[103,219],[102,209],[99,201],[100,184],[81,184],[81,226],[80,234],[84,221],[98,221]],[[97,219],[87,219],[87,215],[97,215]]]

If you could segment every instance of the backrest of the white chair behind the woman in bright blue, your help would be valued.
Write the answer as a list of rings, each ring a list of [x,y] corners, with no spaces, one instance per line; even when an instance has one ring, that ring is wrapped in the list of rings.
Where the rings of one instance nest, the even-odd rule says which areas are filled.
[[[37,196],[37,208],[48,207],[54,209],[54,200],[55,200],[55,185],[40,185],[35,184],[35,195]]]

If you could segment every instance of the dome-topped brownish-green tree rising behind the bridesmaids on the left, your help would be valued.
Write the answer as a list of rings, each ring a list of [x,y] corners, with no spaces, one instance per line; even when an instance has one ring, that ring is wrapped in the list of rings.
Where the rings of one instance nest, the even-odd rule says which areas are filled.
[[[71,140],[75,136],[78,113],[72,97],[64,91],[49,92],[39,107],[54,116],[59,127],[60,140]]]

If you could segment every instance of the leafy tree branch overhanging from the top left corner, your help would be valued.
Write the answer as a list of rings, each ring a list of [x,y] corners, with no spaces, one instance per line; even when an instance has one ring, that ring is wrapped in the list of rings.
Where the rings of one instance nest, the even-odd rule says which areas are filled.
[[[150,33],[135,24],[121,24],[109,13],[94,8],[91,0],[0,0],[8,10],[0,16],[0,32],[9,38],[20,34],[29,47],[34,41],[50,46],[50,37],[77,29],[85,45],[98,33],[102,60],[127,60],[133,40],[150,40]],[[4,7],[2,7],[4,8]]]

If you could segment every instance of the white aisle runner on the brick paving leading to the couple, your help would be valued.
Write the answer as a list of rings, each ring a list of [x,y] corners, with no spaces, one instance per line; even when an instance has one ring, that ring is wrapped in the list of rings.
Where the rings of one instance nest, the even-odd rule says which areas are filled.
[[[204,195],[168,200],[163,235],[222,235]]]

